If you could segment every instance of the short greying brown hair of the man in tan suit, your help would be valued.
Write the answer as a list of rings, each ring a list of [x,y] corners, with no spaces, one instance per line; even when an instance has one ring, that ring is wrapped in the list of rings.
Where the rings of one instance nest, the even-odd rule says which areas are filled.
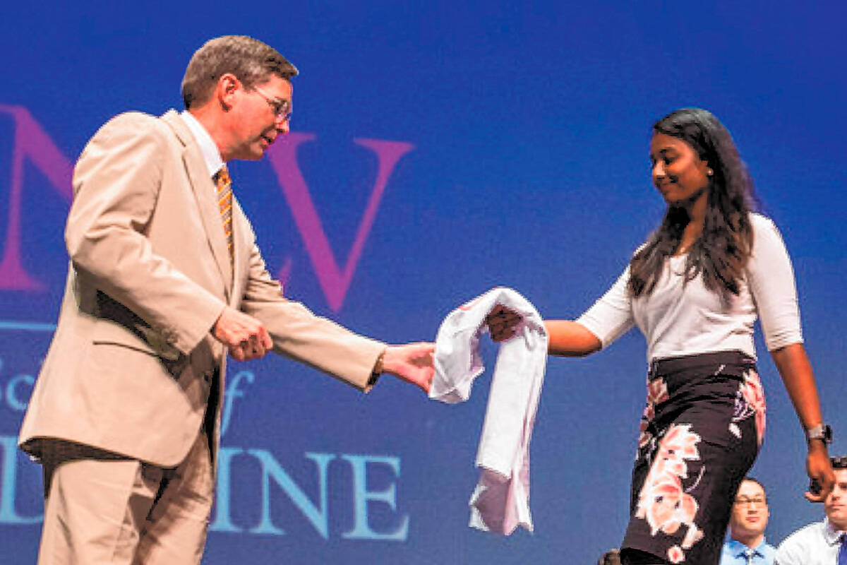
[[[226,73],[232,73],[247,90],[252,90],[271,75],[291,80],[298,72],[274,47],[257,39],[216,37],[197,49],[188,62],[182,79],[182,101],[186,109],[205,104],[221,75]]]

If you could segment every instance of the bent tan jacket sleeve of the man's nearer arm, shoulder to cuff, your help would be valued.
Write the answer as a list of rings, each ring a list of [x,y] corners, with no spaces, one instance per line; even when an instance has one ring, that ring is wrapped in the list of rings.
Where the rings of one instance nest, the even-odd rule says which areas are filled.
[[[165,128],[135,113],[103,125],[75,168],[65,241],[80,275],[187,354],[208,335],[224,302],[153,252],[145,235],[163,163],[179,158]]]

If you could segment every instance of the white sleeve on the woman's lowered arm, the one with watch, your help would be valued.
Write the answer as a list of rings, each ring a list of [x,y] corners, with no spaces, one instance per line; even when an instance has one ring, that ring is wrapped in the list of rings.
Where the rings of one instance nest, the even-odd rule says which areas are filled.
[[[767,349],[774,351],[803,341],[794,269],[777,226],[758,214],[753,219],[753,252],[747,280]]]

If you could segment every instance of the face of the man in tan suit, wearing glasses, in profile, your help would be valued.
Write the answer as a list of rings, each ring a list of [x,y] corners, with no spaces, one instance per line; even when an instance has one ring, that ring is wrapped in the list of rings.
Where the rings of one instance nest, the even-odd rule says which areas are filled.
[[[224,161],[261,159],[279,136],[288,133],[289,123],[285,117],[291,111],[291,82],[288,80],[271,75],[267,82],[252,90],[237,82],[230,92],[230,100],[229,142]],[[280,113],[280,109],[284,111]]]

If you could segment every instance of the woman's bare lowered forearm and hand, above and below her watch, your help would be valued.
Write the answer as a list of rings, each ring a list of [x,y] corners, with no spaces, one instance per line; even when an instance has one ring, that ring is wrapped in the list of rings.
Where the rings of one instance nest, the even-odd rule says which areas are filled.
[[[817,396],[815,374],[812,373],[809,357],[802,343],[780,347],[771,352],[779,375],[783,378],[785,390],[789,393],[794,411],[803,429],[822,424],[821,402]],[[810,479],[821,485],[818,493],[806,492],[805,497],[812,502],[822,502],[833,488],[835,477],[829,464],[827,446],[823,440],[809,440],[809,452],[806,456],[806,473]]]

